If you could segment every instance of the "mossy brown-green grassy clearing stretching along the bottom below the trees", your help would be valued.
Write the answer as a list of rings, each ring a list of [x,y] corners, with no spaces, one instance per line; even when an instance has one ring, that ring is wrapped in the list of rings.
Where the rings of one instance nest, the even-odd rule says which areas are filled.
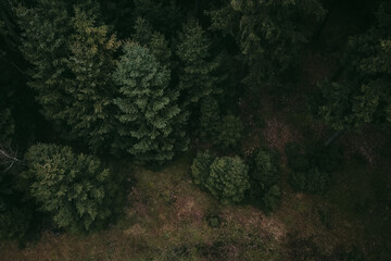
[[[376,198],[367,166],[342,167],[324,196],[285,184],[281,207],[265,215],[250,206],[219,206],[192,184],[190,163],[185,157],[157,172],[117,167],[136,185],[116,225],[88,236],[47,232],[24,249],[3,244],[1,260],[331,260],[341,246],[382,239],[376,233],[384,227],[363,211]]]

